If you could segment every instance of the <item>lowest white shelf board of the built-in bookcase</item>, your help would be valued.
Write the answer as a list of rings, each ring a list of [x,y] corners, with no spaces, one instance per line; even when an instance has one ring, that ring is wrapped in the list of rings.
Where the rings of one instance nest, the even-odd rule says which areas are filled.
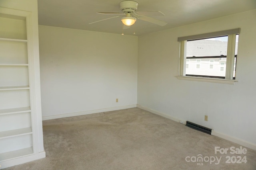
[[[30,154],[33,154],[32,147],[0,153],[0,162],[13,159],[13,158],[22,157],[22,156],[28,156]]]

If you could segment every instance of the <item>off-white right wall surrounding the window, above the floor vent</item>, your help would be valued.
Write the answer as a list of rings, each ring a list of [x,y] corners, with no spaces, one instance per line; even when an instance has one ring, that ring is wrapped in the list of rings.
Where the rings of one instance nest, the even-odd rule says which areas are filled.
[[[178,80],[178,37],[241,28],[234,85]],[[256,10],[138,38],[138,105],[256,148]],[[208,115],[208,121],[204,121]],[[252,147],[252,148],[253,148]]]

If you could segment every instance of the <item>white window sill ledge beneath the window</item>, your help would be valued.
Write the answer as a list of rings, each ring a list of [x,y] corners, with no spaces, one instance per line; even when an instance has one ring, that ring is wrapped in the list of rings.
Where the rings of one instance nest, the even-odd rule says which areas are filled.
[[[207,78],[207,77],[193,77],[193,76],[176,76],[179,80],[191,80],[198,82],[211,82],[211,83],[222,83],[222,84],[235,84],[238,80],[227,80],[221,78]]]

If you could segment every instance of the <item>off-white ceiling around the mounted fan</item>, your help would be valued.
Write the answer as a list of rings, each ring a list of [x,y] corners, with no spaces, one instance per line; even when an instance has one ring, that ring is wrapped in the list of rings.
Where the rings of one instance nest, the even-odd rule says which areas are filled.
[[[115,15],[103,15],[96,12],[122,12],[119,2],[122,0],[38,0],[38,23],[56,27],[84,29],[107,33],[122,33],[121,17],[103,20]],[[256,0],[136,0],[137,11],[161,11],[165,16],[154,16],[168,24],[155,25],[137,20],[126,35],[143,35],[171,27],[187,25],[221,16],[256,9]]]

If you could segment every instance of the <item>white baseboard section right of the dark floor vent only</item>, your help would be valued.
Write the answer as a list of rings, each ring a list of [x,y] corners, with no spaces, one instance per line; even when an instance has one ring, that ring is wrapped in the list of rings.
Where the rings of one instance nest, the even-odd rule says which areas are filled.
[[[214,130],[212,130],[212,135],[214,135],[216,137],[220,137],[222,139],[226,139],[226,140],[234,142],[234,143],[237,143],[237,144],[242,145],[244,147],[256,150],[256,144],[254,144],[254,143],[251,143],[251,142],[248,142],[248,141],[244,141],[242,139],[239,139],[239,138],[236,138],[236,137],[232,137],[232,136],[220,133],[220,132],[216,132]]]

